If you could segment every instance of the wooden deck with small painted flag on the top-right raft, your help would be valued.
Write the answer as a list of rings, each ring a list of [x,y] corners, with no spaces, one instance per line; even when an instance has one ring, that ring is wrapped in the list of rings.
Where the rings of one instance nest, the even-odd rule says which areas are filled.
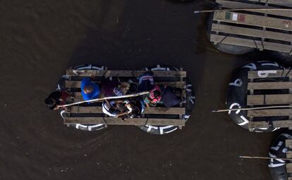
[[[292,8],[291,0],[217,0],[219,8]],[[214,13],[210,41],[292,54],[291,11]]]

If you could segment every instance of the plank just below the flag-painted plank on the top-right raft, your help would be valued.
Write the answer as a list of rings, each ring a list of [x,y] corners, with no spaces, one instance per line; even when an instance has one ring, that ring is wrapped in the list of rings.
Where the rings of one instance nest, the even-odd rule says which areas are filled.
[[[292,13],[291,13],[292,14]],[[292,16],[292,15],[291,15]],[[266,30],[255,30],[247,27],[236,27],[231,25],[222,25],[213,23],[212,31],[214,32],[224,32],[227,34],[238,34],[249,37],[260,37],[264,39],[276,39],[281,41],[291,41],[292,34],[285,34],[281,32],[272,32]]]

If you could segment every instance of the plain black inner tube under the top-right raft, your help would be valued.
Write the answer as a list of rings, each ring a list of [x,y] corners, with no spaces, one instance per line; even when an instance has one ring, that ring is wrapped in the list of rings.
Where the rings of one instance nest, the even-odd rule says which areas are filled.
[[[214,18],[214,13],[210,13],[209,18],[207,20],[207,37],[209,40],[210,40],[210,34],[212,34],[213,18]],[[212,42],[212,45],[219,51],[222,51],[224,53],[235,54],[235,55],[250,53],[251,51],[255,50],[254,48],[250,48],[250,47],[236,46],[236,45],[223,44],[223,43],[214,44]]]

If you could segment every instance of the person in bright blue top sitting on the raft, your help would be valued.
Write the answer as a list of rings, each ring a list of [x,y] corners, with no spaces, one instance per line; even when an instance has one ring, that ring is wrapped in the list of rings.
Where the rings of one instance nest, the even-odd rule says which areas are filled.
[[[99,86],[93,82],[91,82],[90,77],[85,77],[81,82],[81,94],[83,96],[83,100],[92,100],[99,97],[100,89]]]

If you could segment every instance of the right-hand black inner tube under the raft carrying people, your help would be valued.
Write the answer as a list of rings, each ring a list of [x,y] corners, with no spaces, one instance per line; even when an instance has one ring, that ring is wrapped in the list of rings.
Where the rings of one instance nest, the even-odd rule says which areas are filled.
[[[171,66],[164,65],[163,67],[160,65],[150,67],[150,68],[144,68],[143,70],[178,70],[177,68],[173,68]],[[195,105],[195,94],[193,91],[193,86],[186,80],[186,102],[185,102],[185,115],[183,115],[183,119],[187,121],[190,117],[190,114],[192,113],[193,106]],[[178,127],[169,125],[169,126],[151,126],[151,125],[143,125],[138,126],[142,131],[145,131],[150,134],[169,134],[172,131],[176,131]]]

